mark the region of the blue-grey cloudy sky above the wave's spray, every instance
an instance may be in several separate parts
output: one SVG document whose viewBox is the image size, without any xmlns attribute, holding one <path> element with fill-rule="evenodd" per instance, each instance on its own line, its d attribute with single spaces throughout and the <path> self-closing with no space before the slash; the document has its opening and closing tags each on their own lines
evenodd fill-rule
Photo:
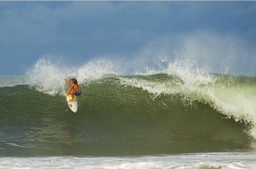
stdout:
<svg viewBox="0 0 256 169">
<path fill-rule="evenodd" d="M 0 1 L 0 74 L 25 74 L 46 55 L 134 57 L 159 37 L 200 31 L 243 41 L 241 67 L 254 63 L 256 1 Z M 256 74 L 250 66 L 239 73 Z"/>
</svg>

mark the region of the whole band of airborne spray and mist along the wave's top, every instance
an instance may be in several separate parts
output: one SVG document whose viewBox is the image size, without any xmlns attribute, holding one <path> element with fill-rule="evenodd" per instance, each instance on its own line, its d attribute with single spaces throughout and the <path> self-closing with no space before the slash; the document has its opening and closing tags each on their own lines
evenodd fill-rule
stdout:
<svg viewBox="0 0 256 169">
<path fill-rule="evenodd" d="M 189 80 L 205 73 L 248 74 L 256 72 L 256 51 L 233 35 L 210 31 L 168 34 L 157 37 L 130 56 L 95 57 L 77 64 L 75 57 L 43 56 L 29 68 L 29 83 L 41 91 L 56 94 L 63 86 L 62 78 L 76 77 L 80 82 L 101 78 L 104 74 L 177 74 Z M 201 80 L 210 80 L 203 77 Z M 42 85 L 39 85 L 42 84 Z M 51 84 L 59 84 L 51 90 Z"/>
</svg>

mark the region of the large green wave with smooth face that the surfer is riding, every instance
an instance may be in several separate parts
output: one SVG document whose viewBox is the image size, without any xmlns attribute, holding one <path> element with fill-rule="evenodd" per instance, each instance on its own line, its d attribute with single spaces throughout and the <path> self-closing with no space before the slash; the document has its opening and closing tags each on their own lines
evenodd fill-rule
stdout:
<svg viewBox="0 0 256 169">
<path fill-rule="evenodd" d="M 255 85 L 250 85 L 256 78 L 206 76 L 215 77 L 214 82 L 201 83 L 190 91 L 175 75 L 104 75 L 80 83 L 77 113 L 69 110 L 65 90 L 50 95 L 40 88 L 36 91 L 37 86 L 2 87 L 1 98 L 6 99 L 0 107 L 4 112 L 0 144 L 7 154 L 10 148 L 27 147 L 29 153 L 36 149 L 46 155 L 55 155 L 58 144 L 63 145 L 59 147 L 63 155 L 71 153 L 71 147 L 76 147 L 76 155 L 253 148 L 254 116 L 250 113 L 254 113 L 255 104 L 240 103 L 254 101 Z"/>
</svg>

